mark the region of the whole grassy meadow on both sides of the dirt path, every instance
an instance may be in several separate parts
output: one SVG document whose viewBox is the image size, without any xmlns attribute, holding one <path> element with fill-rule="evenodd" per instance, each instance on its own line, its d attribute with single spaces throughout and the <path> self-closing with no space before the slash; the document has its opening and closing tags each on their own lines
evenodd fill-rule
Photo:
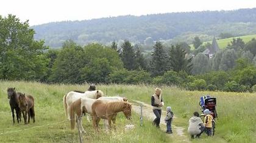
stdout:
<svg viewBox="0 0 256 143">
<path fill-rule="evenodd" d="M 7 99 L 7 87 L 16 87 L 16 91 L 30 94 L 35 98 L 35 124 L 12 124 L 12 116 Z M 65 121 L 62 98 L 71 90 L 85 90 L 88 85 L 48 85 L 38 82 L 0 82 L 0 135 L 1 142 L 78 142 L 77 130 L 69 129 L 69 122 Z M 97 85 L 99 90 L 108 96 L 126 96 L 130 101 L 137 100 L 150 104 L 154 85 Z M 171 106 L 176 119 L 173 125 L 185 128 L 187 135 L 188 119 L 194 111 L 200 111 L 199 97 L 210 94 L 217 98 L 218 120 L 215 136 L 193 142 L 256 142 L 256 94 L 254 93 L 226 93 L 212 91 L 186 91 L 175 87 L 161 87 L 166 106 Z M 97 134 L 91 123 L 83 120 L 87 131 L 83 136 L 86 142 L 175 142 L 163 131 L 152 127 L 151 121 L 144 122 L 140 127 L 140 118 L 133 113 L 135 130 L 125 131 L 128 124 L 123 114 L 116 119 L 117 131 Z M 23 119 L 22 119 L 23 121 Z M 63 121 L 63 122 L 62 122 Z M 59 122 L 59 123 L 58 123 Z M 54 123 L 54 124 L 52 124 Z M 51 124 L 51 125 L 47 125 Z M 43 126 L 45 125 L 45 126 Z M 102 125 L 102 122 L 101 122 Z M 38 127 L 39 126 L 39 127 Z M 36 128 L 32 128 L 36 127 Z M 26 130 L 26 128 L 32 128 Z M 25 130 L 24 130 L 25 129 Z M 22 131 L 19 131 L 22 130 Z M 9 133 L 12 132 L 12 133 Z M 16 132 L 13 132 L 16 131 Z M 156 136 L 157 135 L 157 136 Z M 187 135 L 188 136 L 188 135 Z M 188 136 L 189 138 L 189 136 Z"/>
</svg>

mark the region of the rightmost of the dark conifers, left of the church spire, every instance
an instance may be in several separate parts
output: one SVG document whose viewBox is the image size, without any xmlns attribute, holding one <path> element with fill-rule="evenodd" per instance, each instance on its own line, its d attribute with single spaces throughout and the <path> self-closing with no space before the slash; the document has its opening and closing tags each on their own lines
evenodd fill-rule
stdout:
<svg viewBox="0 0 256 143">
<path fill-rule="evenodd" d="M 179 72 L 181 70 L 190 73 L 192 68 L 192 58 L 185 58 L 187 52 L 183 50 L 180 45 L 172 45 L 169 51 L 169 63 L 173 71 Z"/>
</svg>

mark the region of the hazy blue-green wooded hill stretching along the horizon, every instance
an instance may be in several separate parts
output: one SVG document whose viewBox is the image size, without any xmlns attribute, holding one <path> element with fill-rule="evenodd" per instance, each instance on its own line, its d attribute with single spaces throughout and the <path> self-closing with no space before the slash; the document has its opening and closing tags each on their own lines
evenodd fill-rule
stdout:
<svg viewBox="0 0 256 143">
<path fill-rule="evenodd" d="M 171 39 L 191 42 L 194 35 L 209 41 L 221 32 L 233 36 L 256 33 L 256 8 L 230 11 L 165 13 L 145 16 L 118 16 L 85 21 L 63 21 L 35 25 L 35 39 L 44 39 L 50 47 L 60 47 L 66 39 L 78 44 L 128 39 L 141 42 Z"/>
</svg>

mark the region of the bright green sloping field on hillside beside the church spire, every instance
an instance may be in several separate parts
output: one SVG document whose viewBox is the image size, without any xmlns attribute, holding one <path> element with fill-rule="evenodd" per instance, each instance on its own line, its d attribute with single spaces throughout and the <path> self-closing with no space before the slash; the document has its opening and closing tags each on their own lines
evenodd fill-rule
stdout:
<svg viewBox="0 0 256 143">
<path fill-rule="evenodd" d="M 238 37 L 233 37 L 233 38 L 241 38 L 241 39 L 243 39 L 244 43 L 247 43 L 247 42 L 251 41 L 252 38 L 256 38 L 256 35 L 238 36 Z M 229 43 L 231 44 L 230 41 L 233 41 L 233 38 L 226 38 L 226 39 L 217 40 L 219 48 L 221 48 L 221 49 L 226 48 Z M 212 44 L 212 41 L 207 41 L 207 42 L 210 42 Z M 207 44 L 207 42 L 203 42 L 203 45 Z M 193 44 L 190 44 L 190 47 L 191 47 L 191 50 L 194 50 Z"/>
</svg>

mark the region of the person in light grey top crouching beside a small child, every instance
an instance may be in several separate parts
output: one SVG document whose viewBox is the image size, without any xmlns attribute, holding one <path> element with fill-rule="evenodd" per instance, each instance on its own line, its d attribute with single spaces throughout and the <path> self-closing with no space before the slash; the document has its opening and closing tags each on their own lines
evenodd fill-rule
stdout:
<svg viewBox="0 0 256 143">
<path fill-rule="evenodd" d="M 188 126 L 188 133 L 190 133 L 191 139 L 194 139 L 194 135 L 196 135 L 196 138 L 200 138 L 200 135 L 205 130 L 204 123 L 202 122 L 202 119 L 199 117 L 199 113 L 195 111 L 193 115 L 194 116 L 190 118 Z"/>
</svg>

